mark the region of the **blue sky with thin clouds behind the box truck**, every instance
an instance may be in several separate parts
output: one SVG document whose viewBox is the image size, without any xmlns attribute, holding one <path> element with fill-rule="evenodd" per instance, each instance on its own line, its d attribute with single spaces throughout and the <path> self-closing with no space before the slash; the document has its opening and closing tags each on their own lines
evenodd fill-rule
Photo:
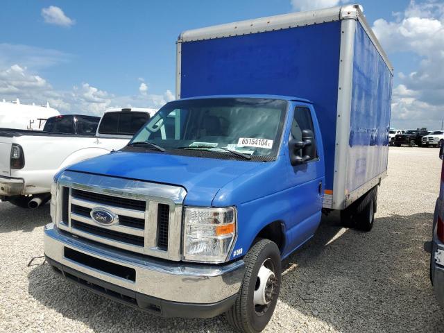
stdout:
<svg viewBox="0 0 444 333">
<path fill-rule="evenodd" d="M 181 31 L 341 2 L 6 0 L 0 12 L 3 31 L 0 71 L 6 73 L 9 69 L 10 73 L 0 75 L 0 98 L 17 96 L 25 102 L 40 103 L 46 102 L 40 100 L 46 98 L 65 113 L 100 113 L 103 107 L 117 106 L 116 103 L 160 106 L 174 93 L 175 42 Z M 408 18 L 409 7 L 429 2 L 416 1 L 412 5 L 407 0 L 364 0 L 360 3 L 370 24 L 382 19 L 382 23 L 399 25 Z M 51 10 L 46 16 L 42 11 L 50 6 L 60 8 L 65 18 L 60 21 L 60 17 L 56 17 L 56 21 L 51 22 Z M 430 19 L 442 22 L 442 16 L 431 14 Z M 391 50 L 389 58 L 397 73 L 409 74 L 417 70 L 424 55 L 400 47 Z M 13 65 L 18 68 L 10 69 Z M 14 86 L 17 80 L 10 76 L 17 74 L 16 71 L 32 81 L 35 94 L 31 89 L 25 91 L 24 87 Z M 44 83 L 36 79 L 37 76 Z M 1 80 L 4 89 L 1 89 Z M 139 89 L 142 83 L 146 89 Z M 402 84 L 398 75 L 394 83 L 394 87 Z M 48 90 L 51 92 L 46 93 Z"/>
</svg>

